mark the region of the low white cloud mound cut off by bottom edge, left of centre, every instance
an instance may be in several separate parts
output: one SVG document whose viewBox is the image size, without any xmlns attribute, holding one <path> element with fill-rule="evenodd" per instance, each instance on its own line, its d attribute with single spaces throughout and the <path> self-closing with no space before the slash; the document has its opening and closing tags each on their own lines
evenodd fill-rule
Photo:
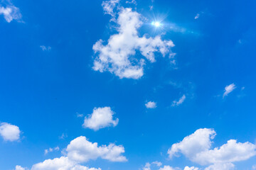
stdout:
<svg viewBox="0 0 256 170">
<path fill-rule="evenodd" d="M 34 164 L 31 170 L 101 170 L 88 168 L 76 162 L 70 161 L 68 157 L 60 157 L 55 159 L 46 159 L 44 162 Z"/>
</svg>

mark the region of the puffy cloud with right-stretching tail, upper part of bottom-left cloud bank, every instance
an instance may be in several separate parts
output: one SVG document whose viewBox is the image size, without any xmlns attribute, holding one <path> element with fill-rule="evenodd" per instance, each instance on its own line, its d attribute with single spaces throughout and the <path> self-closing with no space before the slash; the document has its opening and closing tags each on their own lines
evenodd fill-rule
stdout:
<svg viewBox="0 0 256 170">
<path fill-rule="evenodd" d="M 97 146 L 97 142 L 89 142 L 86 137 L 77 137 L 70 142 L 66 151 L 68 157 L 76 162 L 87 162 L 90 159 L 107 159 L 111 162 L 126 162 L 126 157 L 121 154 L 124 153 L 122 145 L 102 145 Z"/>
</svg>

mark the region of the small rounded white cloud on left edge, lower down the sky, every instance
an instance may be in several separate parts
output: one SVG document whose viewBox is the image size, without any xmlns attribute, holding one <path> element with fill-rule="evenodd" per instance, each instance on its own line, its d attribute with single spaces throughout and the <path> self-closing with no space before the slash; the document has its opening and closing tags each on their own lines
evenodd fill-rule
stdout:
<svg viewBox="0 0 256 170">
<path fill-rule="evenodd" d="M 19 140 L 20 134 L 21 130 L 19 130 L 18 126 L 9 123 L 0 124 L 0 135 L 4 140 L 11 142 Z"/>
</svg>

